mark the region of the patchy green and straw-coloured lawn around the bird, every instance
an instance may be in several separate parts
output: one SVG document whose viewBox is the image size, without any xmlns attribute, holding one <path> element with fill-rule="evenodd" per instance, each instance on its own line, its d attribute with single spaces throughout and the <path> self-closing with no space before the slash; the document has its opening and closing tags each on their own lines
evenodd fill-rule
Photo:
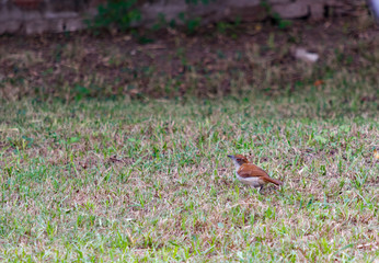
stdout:
<svg viewBox="0 0 379 263">
<path fill-rule="evenodd" d="M 4 102 L 0 258 L 378 260 L 372 92 L 342 72 L 276 99 Z M 239 183 L 233 152 L 285 186 Z"/>
</svg>

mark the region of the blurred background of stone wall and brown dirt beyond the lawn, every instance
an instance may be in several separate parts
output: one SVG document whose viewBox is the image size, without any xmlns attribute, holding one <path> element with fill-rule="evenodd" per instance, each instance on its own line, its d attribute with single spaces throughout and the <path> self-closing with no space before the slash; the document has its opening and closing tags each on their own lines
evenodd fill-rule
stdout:
<svg viewBox="0 0 379 263">
<path fill-rule="evenodd" d="M 0 96 L 277 96 L 324 89 L 333 78 L 377 85 L 378 26 L 369 3 L 1 1 Z"/>
</svg>

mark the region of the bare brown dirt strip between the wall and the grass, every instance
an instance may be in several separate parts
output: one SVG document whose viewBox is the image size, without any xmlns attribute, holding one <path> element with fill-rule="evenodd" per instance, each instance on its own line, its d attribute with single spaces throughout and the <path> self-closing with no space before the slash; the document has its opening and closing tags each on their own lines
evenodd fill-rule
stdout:
<svg viewBox="0 0 379 263">
<path fill-rule="evenodd" d="M 267 23 L 114 36 L 67 33 L 7 37 L 0 42 L 0 95 L 64 101 L 84 98 L 222 98 L 261 91 L 283 95 L 319 83 L 341 70 L 377 78 L 378 31 L 370 20 Z M 146 38 L 153 41 L 149 44 Z M 303 47 L 315 65 L 294 58 Z M 368 73 L 367 70 L 370 72 Z M 378 100 L 370 94 L 368 100 Z M 365 99 L 366 100 L 366 99 Z"/>
</svg>

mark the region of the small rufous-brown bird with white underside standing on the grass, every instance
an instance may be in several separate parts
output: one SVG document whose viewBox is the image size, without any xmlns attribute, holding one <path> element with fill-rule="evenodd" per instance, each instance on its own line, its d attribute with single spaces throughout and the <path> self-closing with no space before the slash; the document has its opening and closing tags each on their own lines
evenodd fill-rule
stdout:
<svg viewBox="0 0 379 263">
<path fill-rule="evenodd" d="M 236 155 L 228 157 L 234 161 L 236 175 L 240 182 L 252 187 L 259 187 L 260 191 L 267 183 L 273 183 L 277 186 L 283 184 L 282 181 L 268 176 L 267 172 L 262 168 L 249 162 L 248 158 L 244 156 Z"/>
</svg>

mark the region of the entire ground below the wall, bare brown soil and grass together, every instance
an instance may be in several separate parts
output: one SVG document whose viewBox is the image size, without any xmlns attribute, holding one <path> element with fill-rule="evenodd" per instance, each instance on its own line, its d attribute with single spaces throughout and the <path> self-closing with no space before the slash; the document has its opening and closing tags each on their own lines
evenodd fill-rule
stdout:
<svg viewBox="0 0 379 263">
<path fill-rule="evenodd" d="M 0 259 L 376 262 L 377 35 L 349 25 L 4 36 Z M 284 186 L 241 184 L 230 153 Z"/>
</svg>

